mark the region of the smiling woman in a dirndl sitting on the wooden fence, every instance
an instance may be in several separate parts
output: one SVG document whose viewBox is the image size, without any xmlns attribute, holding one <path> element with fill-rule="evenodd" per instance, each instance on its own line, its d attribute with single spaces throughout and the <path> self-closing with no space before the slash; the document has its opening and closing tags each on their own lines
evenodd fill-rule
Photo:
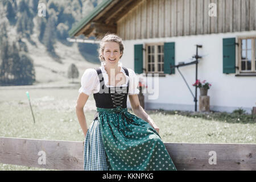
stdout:
<svg viewBox="0 0 256 182">
<path fill-rule="evenodd" d="M 122 67 L 122 39 L 106 34 L 101 39 L 101 67 L 86 69 L 76 104 L 85 136 L 85 170 L 176 170 L 159 136 L 159 127 L 138 100 L 138 78 Z M 93 93 L 97 115 L 87 127 L 83 107 Z M 135 115 L 127 111 L 129 95 Z"/>
</svg>

